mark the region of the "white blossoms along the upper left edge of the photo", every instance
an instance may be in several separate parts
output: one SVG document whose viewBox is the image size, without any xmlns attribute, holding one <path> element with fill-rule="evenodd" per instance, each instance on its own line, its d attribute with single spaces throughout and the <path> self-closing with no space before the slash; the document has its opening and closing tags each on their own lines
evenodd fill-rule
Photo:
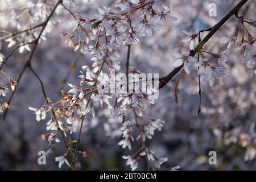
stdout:
<svg viewBox="0 0 256 182">
<path fill-rule="evenodd" d="M 11 17 L 10 19 L 10 26 L 16 29 L 16 32 L 9 32 L 0 28 L 0 32 L 4 35 L 0 38 L 0 51 L 2 49 L 3 42 L 7 43 L 7 48 L 15 47 L 13 51 L 11 51 L 10 55 L 3 55 L 0 52 L 0 74 L 7 78 L 10 82 L 10 88 L 12 91 L 15 90 L 17 86 L 17 82 L 13 80 L 7 73 L 3 71 L 3 65 L 7 61 L 7 59 L 11 56 L 11 54 L 19 50 L 19 53 L 23 53 L 26 51 L 31 51 L 31 44 L 35 43 L 35 39 L 40 34 L 40 30 L 43 26 L 43 23 L 47 15 L 51 12 L 52 9 L 52 2 L 32 2 L 28 1 L 26 6 L 22 6 L 19 2 L 16 2 L 16 5 L 7 5 L 5 2 L 2 2 L 7 8 L 5 12 L 7 15 Z M 21 7 L 18 9 L 17 7 Z M 22 15 L 19 14 L 19 11 L 22 11 Z M 30 24 L 30 28 L 24 27 L 28 22 Z M 24 23 L 26 22 L 26 23 Z M 42 35 L 40 36 L 40 40 L 46 40 L 46 33 L 51 31 L 51 28 L 55 24 L 55 20 L 49 20 L 47 26 L 44 28 Z M 27 28 L 27 29 L 26 29 Z M 9 92 L 9 86 L 1 86 L 0 83 L 0 96 L 5 97 L 6 93 Z M 3 113 L 9 107 L 7 102 L 2 101 L 0 99 L 0 114 Z"/>
</svg>

